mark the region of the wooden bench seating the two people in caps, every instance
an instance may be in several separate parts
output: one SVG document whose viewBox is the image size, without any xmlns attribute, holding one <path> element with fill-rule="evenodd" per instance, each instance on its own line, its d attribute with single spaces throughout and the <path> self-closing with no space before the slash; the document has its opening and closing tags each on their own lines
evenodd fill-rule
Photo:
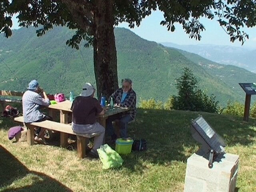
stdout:
<svg viewBox="0 0 256 192">
<path fill-rule="evenodd" d="M 14 118 L 14 121 L 24 123 L 23 116 Z M 48 130 L 60 132 L 60 146 L 65 147 L 68 144 L 67 134 L 76 135 L 77 137 L 77 156 L 85 158 L 86 139 L 99 135 L 98 132 L 93 134 L 78 134 L 73 132 L 71 124 L 63 124 L 59 122 L 45 120 L 42 122 L 25 123 L 27 127 L 27 142 L 29 145 L 34 145 L 34 128 L 41 127 Z"/>
</svg>

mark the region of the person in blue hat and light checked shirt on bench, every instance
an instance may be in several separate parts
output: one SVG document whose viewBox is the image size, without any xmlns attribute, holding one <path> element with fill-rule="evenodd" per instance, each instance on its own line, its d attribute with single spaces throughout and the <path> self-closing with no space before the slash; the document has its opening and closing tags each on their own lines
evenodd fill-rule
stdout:
<svg viewBox="0 0 256 192">
<path fill-rule="evenodd" d="M 28 84 L 28 90 L 22 96 L 23 118 L 25 123 L 52 120 L 52 117 L 42 113 L 40 106 L 49 106 L 50 100 L 46 93 L 39 87 L 37 80 L 32 80 Z M 44 98 L 42 97 L 44 96 Z M 44 129 L 35 130 L 35 141 L 46 144 L 44 140 Z"/>
</svg>

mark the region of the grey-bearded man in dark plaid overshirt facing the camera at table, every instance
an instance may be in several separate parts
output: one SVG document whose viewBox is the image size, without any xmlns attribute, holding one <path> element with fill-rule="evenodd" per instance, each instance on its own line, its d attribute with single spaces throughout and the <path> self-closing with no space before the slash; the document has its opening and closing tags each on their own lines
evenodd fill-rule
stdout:
<svg viewBox="0 0 256 192">
<path fill-rule="evenodd" d="M 128 122 L 134 120 L 136 116 L 136 93 L 132 89 L 132 80 L 130 79 L 122 79 L 122 88 L 117 89 L 110 98 L 113 98 L 113 102 L 122 107 L 129 107 L 130 110 L 128 112 L 124 112 L 122 114 L 116 114 L 110 116 L 106 120 L 106 128 L 108 130 L 108 134 L 111 136 L 112 142 L 114 142 L 117 138 L 116 134 L 114 134 L 114 128 L 112 122 L 116 119 L 119 119 L 119 128 L 120 128 L 120 137 L 126 138 L 126 130 L 128 126 Z"/>
</svg>

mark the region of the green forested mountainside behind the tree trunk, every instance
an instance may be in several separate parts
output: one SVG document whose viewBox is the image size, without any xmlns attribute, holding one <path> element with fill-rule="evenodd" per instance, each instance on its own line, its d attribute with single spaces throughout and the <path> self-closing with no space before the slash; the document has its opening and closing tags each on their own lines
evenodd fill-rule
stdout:
<svg viewBox="0 0 256 192">
<path fill-rule="evenodd" d="M 55 27 L 41 37 L 35 31 L 20 28 L 8 39 L 0 34 L 0 89 L 24 91 L 30 80 L 37 79 L 46 92 L 68 96 L 70 90 L 80 94 L 85 82 L 96 84 L 92 47 L 66 46 L 74 35 L 67 28 Z M 214 94 L 223 106 L 228 99 L 244 102 L 238 82 L 255 81 L 256 74 L 242 68 L 144 40 L 124 28 L 114 32 L 119 84 L 122 78 L 131 78 L 138 102 L 151 97 L 165 102 L 170 94 L 177 94 L 175 79 L 185 66 L 193 71 L 199 87 Z"/>
</svg>

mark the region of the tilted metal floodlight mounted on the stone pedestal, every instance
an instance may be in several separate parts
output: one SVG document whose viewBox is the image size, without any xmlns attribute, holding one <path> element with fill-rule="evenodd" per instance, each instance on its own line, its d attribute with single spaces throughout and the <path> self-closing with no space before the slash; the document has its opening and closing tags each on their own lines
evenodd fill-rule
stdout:
<svg viewBox="0 0 256 192">
<path fill-rule="evenodd" d="M 226 146 L 224 140 L 214 131 L 214 129 L 204 120 L 202 116 L 198 116 L 195 120 L 191 120 L 191 132 L 193 138 L 202 144 L 202 150 L 209 154 L 208 167 L 213 167 L 214 159 L 219 154 L 224 154 Z"/>
</svg>

